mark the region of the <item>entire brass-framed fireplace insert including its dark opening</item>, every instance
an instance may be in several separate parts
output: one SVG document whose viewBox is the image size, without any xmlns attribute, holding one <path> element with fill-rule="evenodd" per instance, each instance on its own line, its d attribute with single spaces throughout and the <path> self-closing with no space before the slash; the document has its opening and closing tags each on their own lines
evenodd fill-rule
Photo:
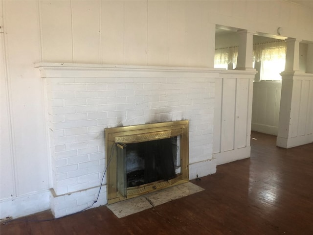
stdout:
<svg viewBox="0 0 313 235">
<path fill-rule="evenodd" d="M 188 120 L 107 128 L 108 203 L 185 183 Z M 107 155 L 109 156 L 109 155 Z"/>
</svg>

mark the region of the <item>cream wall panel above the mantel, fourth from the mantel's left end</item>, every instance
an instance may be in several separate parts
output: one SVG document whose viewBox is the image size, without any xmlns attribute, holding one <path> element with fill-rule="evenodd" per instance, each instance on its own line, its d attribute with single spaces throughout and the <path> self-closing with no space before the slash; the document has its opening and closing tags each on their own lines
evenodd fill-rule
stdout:
<svg viewBox="0 0 313 235">
<path fill-rule="evenodd" d="M 125 2 L 125 64 L 147 65 L 147 2 Z"/>
</svg>

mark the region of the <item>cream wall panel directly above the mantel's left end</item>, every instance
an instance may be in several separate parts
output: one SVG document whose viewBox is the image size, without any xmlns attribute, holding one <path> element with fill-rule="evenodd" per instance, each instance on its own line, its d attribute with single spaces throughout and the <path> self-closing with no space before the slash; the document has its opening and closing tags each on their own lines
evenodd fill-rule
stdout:
<svg viewBox="0 0 313 235">
<path fill-rule="evenodd" d="M 50 0 L 39 3 L 44 62 L 72 63 L 71 2 Z"/>
</svg>

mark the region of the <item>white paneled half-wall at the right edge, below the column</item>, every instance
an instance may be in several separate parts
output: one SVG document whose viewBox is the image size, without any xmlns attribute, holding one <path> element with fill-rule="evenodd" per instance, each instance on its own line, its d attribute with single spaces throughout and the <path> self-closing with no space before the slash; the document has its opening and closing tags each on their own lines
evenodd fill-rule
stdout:
<svg viewBox="0 0 313 235">
<path fill-rule="evenodd" d="M 313 74 L 282 73 L 277 146 L 291 148 L 313 142 Z"/>
</svg>

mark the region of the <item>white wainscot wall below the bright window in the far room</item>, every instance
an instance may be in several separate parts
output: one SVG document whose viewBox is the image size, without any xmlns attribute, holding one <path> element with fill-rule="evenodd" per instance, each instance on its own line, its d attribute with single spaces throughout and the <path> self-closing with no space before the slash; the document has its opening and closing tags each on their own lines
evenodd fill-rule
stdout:
<svg viewBox="0 0 313 235">
<path fill-rule="evenodd" d="M 281 82 L 253 83 L 253 131 L 277 136 L 281 89 Z"/>
</svg>

